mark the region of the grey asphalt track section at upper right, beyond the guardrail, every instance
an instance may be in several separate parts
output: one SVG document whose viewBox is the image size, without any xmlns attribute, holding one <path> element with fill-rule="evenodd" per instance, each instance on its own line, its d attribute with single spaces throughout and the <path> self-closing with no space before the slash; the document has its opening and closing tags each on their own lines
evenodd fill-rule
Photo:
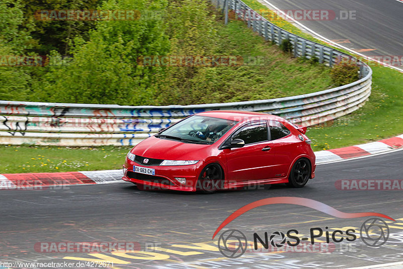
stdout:
<svg viewBox="0 0 403 269">
<path fill-rule="evenodd" d="M 264 4 L 264 0 L 259 0 Z M 280 10 L 332 10 L 334 20 L 301 20 L 316 33 L 367 56 L 403 55 L 403 2 L 397 0 L 267 0 Z M 355 17 L 342 20 L 340 11 Z M 401 69 L 402 66 L 399 66 Z"/>
</svg>

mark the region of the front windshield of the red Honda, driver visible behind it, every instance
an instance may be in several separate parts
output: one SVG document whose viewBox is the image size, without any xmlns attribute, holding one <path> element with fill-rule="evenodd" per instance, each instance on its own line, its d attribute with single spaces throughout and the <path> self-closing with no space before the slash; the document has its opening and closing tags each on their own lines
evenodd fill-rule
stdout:
<svg viewBox="0 0 403 269">
<path fill-rule="evenodd" d="M 188 143 L 213 144 L 236 123 L 238 121 L 196 115 L 156 134 L 156 137 Z"/>
</svg>

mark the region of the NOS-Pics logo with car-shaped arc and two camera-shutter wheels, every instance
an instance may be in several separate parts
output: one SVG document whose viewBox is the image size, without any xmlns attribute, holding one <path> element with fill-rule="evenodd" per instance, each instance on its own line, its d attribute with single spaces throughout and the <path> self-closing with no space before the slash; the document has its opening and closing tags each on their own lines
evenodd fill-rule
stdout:
<svg viewBox="0 0 403 269">
<path fill-rule="evenodd" d="M 361 218 L 361 217 L 371 217 L 364 221 L 360 227 L 360 238 L 361 240 L 370 247 L 379 247 L 387 242 L 389 238 L 389 227 L 385 221 L 378 218 L 386 218 L 392 221 L 394 219 L 379 213 L 344 213 L 338 211 L 332 207 L 329 207 L 319 201 L 315 201 L 307 198 L 300 197 L 273 197 L 255 201 L 249 205 L 246 205 L 239 210 L 231 214 L 220 226 L 217 228 L 213 235 L 214 237 L 218 234 L 220 230 L 228 223 L 242 215 L 243 213 L 263 205 L 272 204 L 292 204 L 309 207 L 334 217 L 338 218 Z M 314 227 L 309 230 L 309 237 L 299 238 L 299 232 L 295 229 L 288 230 L 286 233 L 282 231 L 275 231 L 270 234 L 265 232 L 264 234 L 253 233 L 253 248 L 258 249 L 260 244 L 263 248 L 269 249 L 270 247 L 281 248 L 283 246 L 297 247 L 302 241 L 307 241 L 311 245 L 315 244 L 315 239 L 319 237 L 325 237 L 327 243 L 340 243 L 343 240 L 348 242 L 353 242 L 357 239 L 355 233 L 358 233 L 355 229 L 342 230 L 327 230 L 328 227 L 320 228 Z M 316 242 L 318 243 L 318 242 Z M 252 247 L 252 246 L 250 246 Z M 228 258 L 237 258 L 242 256 L 248 248 L 248 241 L 244 233 L 236 229 L 229 229 L 224 231 L 218 240 L 218 248 L 220 252 Z M 252 252 L 253 250 L 251 250 Z"/>
</svg>

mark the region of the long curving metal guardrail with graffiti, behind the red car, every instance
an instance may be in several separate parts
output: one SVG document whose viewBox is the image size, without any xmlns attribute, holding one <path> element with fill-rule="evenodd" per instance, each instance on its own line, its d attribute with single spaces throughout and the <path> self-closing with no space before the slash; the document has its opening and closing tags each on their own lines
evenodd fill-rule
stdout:
<svg viewBox="0 0 403 269">
<path fill-rule="evenodd" d="M 239 18 L 266 40 L 281 44 L 289 39 L 298 57 L 315 56 L 334 64 L 351 56 L 287 32 L 268 22 L 239 0 L 221 0 L 224 10 Z M 220 1 L 216 1 L 220 7 Z M 228 5 L 228 6 L 227 6 Z M 189 106 L 119 106 L 0 101 L 0 144 L 102 146 L 136 145 L 159 128 L 207 110 L 250 110 L 280 115 L 306 126 L 351 113 L 371 94 L 372 70 L 359 62 L 361 79 L 338 88 L 299 96 L 224 104 Z"/>
</svg>

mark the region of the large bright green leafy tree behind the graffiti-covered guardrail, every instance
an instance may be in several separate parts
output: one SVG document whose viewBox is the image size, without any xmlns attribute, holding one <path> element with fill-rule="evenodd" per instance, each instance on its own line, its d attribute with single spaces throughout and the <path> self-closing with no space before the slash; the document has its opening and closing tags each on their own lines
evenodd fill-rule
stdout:
<svg viewBox="0 0 403 269">
<path fill-rule="evenodd" d="M 103 10 L 161 11 L 164 0 L 109 0 Z M 35 86 L 42 101 L 117 103 L 139 105 L 152 102 L 153 74 L 160 68 L 137 65 L 141 55 L 166 54 L 169 42 L 158 17 L 128 21 L 99 21 L 90 30 L 89 41 L 76 37 L 73 58 L 60 66 L 49 66 L 43 83 Z M 55 56 L 57 53 L 52 52 Z"/>
</svg>

